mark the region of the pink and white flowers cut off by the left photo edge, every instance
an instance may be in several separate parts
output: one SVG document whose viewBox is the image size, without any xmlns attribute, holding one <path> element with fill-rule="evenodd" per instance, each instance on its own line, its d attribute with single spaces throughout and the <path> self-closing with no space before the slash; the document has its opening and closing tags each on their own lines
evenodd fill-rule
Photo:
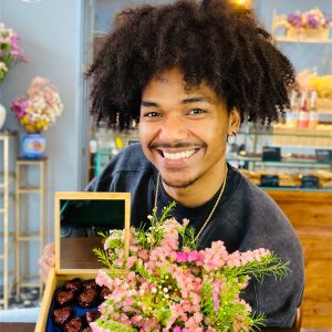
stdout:
<svg viewBox="0 0 332 332">
<path fill-rule="evenodd" d="M 23 50 L 19 46 L 21 38 L 0 22 L 0 83 L 4 80 L 10 68 L 18 61 L 28 61 Z"/>
</svg>

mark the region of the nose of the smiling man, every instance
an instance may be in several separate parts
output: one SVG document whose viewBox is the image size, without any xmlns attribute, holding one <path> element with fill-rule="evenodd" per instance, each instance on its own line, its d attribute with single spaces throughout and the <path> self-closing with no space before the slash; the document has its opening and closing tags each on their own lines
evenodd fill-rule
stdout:
<svg viewBox="0 0 332 332">
<path fill-rule="evenodd" d="M 185 121 L 178 115 L 167 116 L 162 124 L 159 139 L 164 143 L 176 143 L 187 138 Z"/>
</svg>

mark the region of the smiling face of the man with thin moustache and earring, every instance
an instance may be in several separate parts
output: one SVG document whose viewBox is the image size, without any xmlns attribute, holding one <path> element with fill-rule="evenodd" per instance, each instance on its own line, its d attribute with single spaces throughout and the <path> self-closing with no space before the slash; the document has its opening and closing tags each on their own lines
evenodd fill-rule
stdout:
<svg viewBox="0 0 332 332">
<path fill-rule="evenodd" d="M 212 89 L 185 89 L 175 68 L 154 76 L 142 93 L 139 138 L 143 152 L 173 188 L 209 185 L 220 178 L 227 134 L 237 132 L 239 114 L 228 114 Z"/>
</svg>

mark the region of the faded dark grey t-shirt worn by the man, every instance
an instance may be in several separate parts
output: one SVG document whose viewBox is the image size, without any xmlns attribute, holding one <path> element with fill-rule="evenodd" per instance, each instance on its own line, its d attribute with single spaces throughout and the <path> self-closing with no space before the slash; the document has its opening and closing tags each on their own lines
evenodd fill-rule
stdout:
<svg viewBox="0 0 332 332">
<path fill-rule="evenodd" d="M 139 226 L 147 220 L 146 217 L 154 207 L 156 181 L 157 169 L 145 158 L 141 144 L 134 144 L 113 157 L 102 174 L 87 186 L 87 190 L 129 191 L 131 221 L 133 226 Z M 178 221 L 189 219 L 189 225 L 198 232 L 216 203 L 217 195 L 196 208 L 177 204 L 173 216 Z M 158 211 L 172 200 L 163 186 L 159 186 Z M 301 245 L 277 204 L 231 166 L 224 195 L 199 237 L 198 247 L 209 247 L 216 240 L 222 240 L 229 252 L 267 248 L 290 261 L 291 271 L 287 277 L 277 281 L 272 276 L 266 277 L 262 283 L 252 279 L 246 288 L 243 299 L 253 311 L 266 314 L 267 326 L 291 326 L 295 309 L 302 300 L 304 284 Z"/>
</svg>

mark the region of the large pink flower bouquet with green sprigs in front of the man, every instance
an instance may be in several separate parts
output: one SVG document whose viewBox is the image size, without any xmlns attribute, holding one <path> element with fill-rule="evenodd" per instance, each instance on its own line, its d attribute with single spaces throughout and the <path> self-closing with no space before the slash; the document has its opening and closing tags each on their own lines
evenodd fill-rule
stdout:
<svg viewBox="0 0 332 332">
<path fill-rule="evenodd" d="M 240 294 L 251 277 L 282 277 L 288 262 L 266 249 L 228 253 L 222 241 L 196 249 L 194 228 L 168 218 L 174 203 L 151 227 L 131 229 L 129 257 L 124 231 L 111 230 L 104 250 L 94 249 L 106 268 L 96 277 L 108 294 L 100 305 L 93 331 L 250 331 L 263 325 Z M 112 271 L 126 269 L 125 277 Z M 113 274 L 114 276 L 114 274 Z"/>
</svg>

